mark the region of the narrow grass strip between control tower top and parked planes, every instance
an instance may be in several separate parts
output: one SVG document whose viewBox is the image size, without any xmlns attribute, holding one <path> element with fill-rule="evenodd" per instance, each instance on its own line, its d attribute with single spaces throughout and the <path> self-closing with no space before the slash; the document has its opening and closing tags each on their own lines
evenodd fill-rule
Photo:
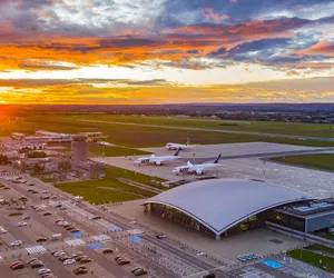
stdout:
<svg viewBox="0 0 334 278">
<path fill-rule="evenodd" d="M 129 156 L 143 156 L 143 155 L 150 155 L 148 151 L 131 149 L 131 148 L 125 148 L 125 147 L 89 147 L 89 152 L 92 152 L 98 156 L 102 156 L 105 152 L 106 157 L 129 157 Z"/>
</svg>

